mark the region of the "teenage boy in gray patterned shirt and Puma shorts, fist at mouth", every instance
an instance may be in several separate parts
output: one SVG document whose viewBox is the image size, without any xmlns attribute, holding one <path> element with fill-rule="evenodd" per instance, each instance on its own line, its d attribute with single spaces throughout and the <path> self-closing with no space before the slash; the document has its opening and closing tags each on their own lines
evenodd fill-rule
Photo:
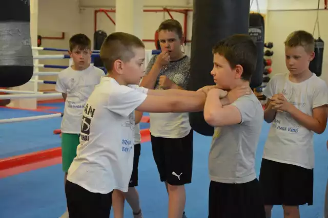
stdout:
<svg viewBox="0 0 328 218">
<path fill-rule="evenodd" d="M 177 20 L 163 21 L 158 28 L 161 53 L 147 65 L 140 86 L 148 89 L 187 89 L 190 58 L 181 51 L 182 27 Z M 186 217 L 185 184 L 191 183 L 193 130 L 188 113 L 150 113 L 153 156 L 161 182 L 169 194 L 169 218 Z"/>
</svg>

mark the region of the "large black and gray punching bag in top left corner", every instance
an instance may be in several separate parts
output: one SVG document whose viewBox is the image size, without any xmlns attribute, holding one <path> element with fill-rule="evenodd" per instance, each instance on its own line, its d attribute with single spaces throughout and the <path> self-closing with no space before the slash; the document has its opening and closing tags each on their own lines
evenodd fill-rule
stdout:
<svg viewBox="0 0 328 218">
<path fill-rule="evenodd" d="M 30 1 L 4 1 L 0 7 L 0 87 L 23 85 L 32 76 Z"/>
</svg>

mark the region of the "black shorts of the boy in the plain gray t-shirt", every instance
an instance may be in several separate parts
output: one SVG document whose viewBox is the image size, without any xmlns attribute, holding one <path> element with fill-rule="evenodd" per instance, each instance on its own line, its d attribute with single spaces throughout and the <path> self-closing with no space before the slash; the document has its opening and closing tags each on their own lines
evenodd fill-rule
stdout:
<svg viewBox="0 0 328 218">
<path fill-rule="evenodd" d="M 265 218 L 263 196 L 257 179 L 242 184 L 211 181 L 209 218 Z"/>
</svg>

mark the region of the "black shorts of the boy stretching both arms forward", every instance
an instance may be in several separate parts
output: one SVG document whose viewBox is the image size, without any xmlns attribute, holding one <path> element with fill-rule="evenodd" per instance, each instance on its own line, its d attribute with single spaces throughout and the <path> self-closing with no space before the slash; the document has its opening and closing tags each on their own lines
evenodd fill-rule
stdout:
<svg viewBox="0 0 328 218">
<path fill-rule="evenodd" d="M 70 218 L 108 218 L 112 206 L 112 192 L 93 193 L 66 181 L 65 193 Z"/>
</svg>

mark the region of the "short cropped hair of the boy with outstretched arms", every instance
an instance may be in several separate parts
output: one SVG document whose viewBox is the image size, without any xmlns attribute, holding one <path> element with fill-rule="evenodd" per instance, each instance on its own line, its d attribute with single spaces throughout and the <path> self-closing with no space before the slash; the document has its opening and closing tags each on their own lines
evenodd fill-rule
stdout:
<svg viewBox="0 0 328 218">
<path fill-rule="evenodd" d="M 129 61 L 135 56 L 134 48 L 145 48 L 138 37 L 123 32 L 115 32 L 106 37 L 100 48 L 100 59 L 108 72 L 116 60 Z"/>
</svg>

